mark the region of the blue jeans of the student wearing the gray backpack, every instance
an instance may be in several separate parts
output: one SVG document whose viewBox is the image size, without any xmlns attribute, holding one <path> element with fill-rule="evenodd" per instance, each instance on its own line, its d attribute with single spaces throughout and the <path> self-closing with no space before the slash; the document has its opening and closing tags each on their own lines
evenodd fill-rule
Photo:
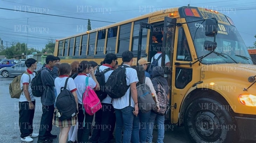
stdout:
<svg viewBox="0 0 256 143">
<path fill-rule="evenodd" d="M 133 131 L 132 131 L 132 143 L 146 143 L 147 139 L 147 125 L 150 117 L 150 111 L 148 113 L 142 113 L 139 110 L 138 116 L 133 118 Z"/>
</svg>

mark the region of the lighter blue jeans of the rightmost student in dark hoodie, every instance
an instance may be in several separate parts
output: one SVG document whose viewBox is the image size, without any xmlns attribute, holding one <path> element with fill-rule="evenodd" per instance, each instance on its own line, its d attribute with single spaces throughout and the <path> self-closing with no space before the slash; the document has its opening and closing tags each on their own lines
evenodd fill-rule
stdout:
<svg viewBox="0 0 256 143">
<path fill-rule="evenodd" d="M 150 118 L 148 121 L 148 135 L 147 135 L 147 142 L 152 143 L 153 140 L 153 128 L 155 119 L 157 121 L 157 143 L 163 143 L 164 138 L 164 115 L 160 115 L 151 111 Z"/>
</svg>

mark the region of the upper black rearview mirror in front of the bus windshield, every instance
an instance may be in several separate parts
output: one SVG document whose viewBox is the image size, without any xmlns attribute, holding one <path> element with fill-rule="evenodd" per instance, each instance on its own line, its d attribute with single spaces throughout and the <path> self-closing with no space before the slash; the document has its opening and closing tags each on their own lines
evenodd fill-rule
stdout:
<svg viewBox="0 0 256 143">
<path fill-rule="evenodd" d="M 209 37 L 214 37 L 218 33 L 218 21 L 215 18 L 206 19 L 205 34 Z"/>
</svg>

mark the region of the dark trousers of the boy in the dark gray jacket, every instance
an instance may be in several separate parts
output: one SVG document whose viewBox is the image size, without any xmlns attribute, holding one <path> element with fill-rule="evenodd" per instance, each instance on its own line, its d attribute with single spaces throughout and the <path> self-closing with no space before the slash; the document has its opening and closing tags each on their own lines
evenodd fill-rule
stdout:
<svg viewBox="0 0 256 143">
<path fill-rule="evenodd" d="M 45 140 L 48 136 L 51 135 L 53 128 L 53 112 L 54 105 L 42 105 L 42 117 L 39 127 L 39 136 L 38 140 Z"/>
</svg>

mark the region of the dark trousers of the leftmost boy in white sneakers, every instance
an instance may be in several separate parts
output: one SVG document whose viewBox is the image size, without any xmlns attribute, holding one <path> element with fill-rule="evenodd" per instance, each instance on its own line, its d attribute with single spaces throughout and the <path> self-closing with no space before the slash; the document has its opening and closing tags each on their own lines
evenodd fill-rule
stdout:
<svg viewBox="0 0 256 143">
<path fill-rule="evenodd" d="M 35 101 L 32 101 L 35 106 Z M 24 138 L 33 133 L 33 119 L 35 109 L 29 109 L 28 101 L 19 102 L 20 137 Z"/>
</svg>

